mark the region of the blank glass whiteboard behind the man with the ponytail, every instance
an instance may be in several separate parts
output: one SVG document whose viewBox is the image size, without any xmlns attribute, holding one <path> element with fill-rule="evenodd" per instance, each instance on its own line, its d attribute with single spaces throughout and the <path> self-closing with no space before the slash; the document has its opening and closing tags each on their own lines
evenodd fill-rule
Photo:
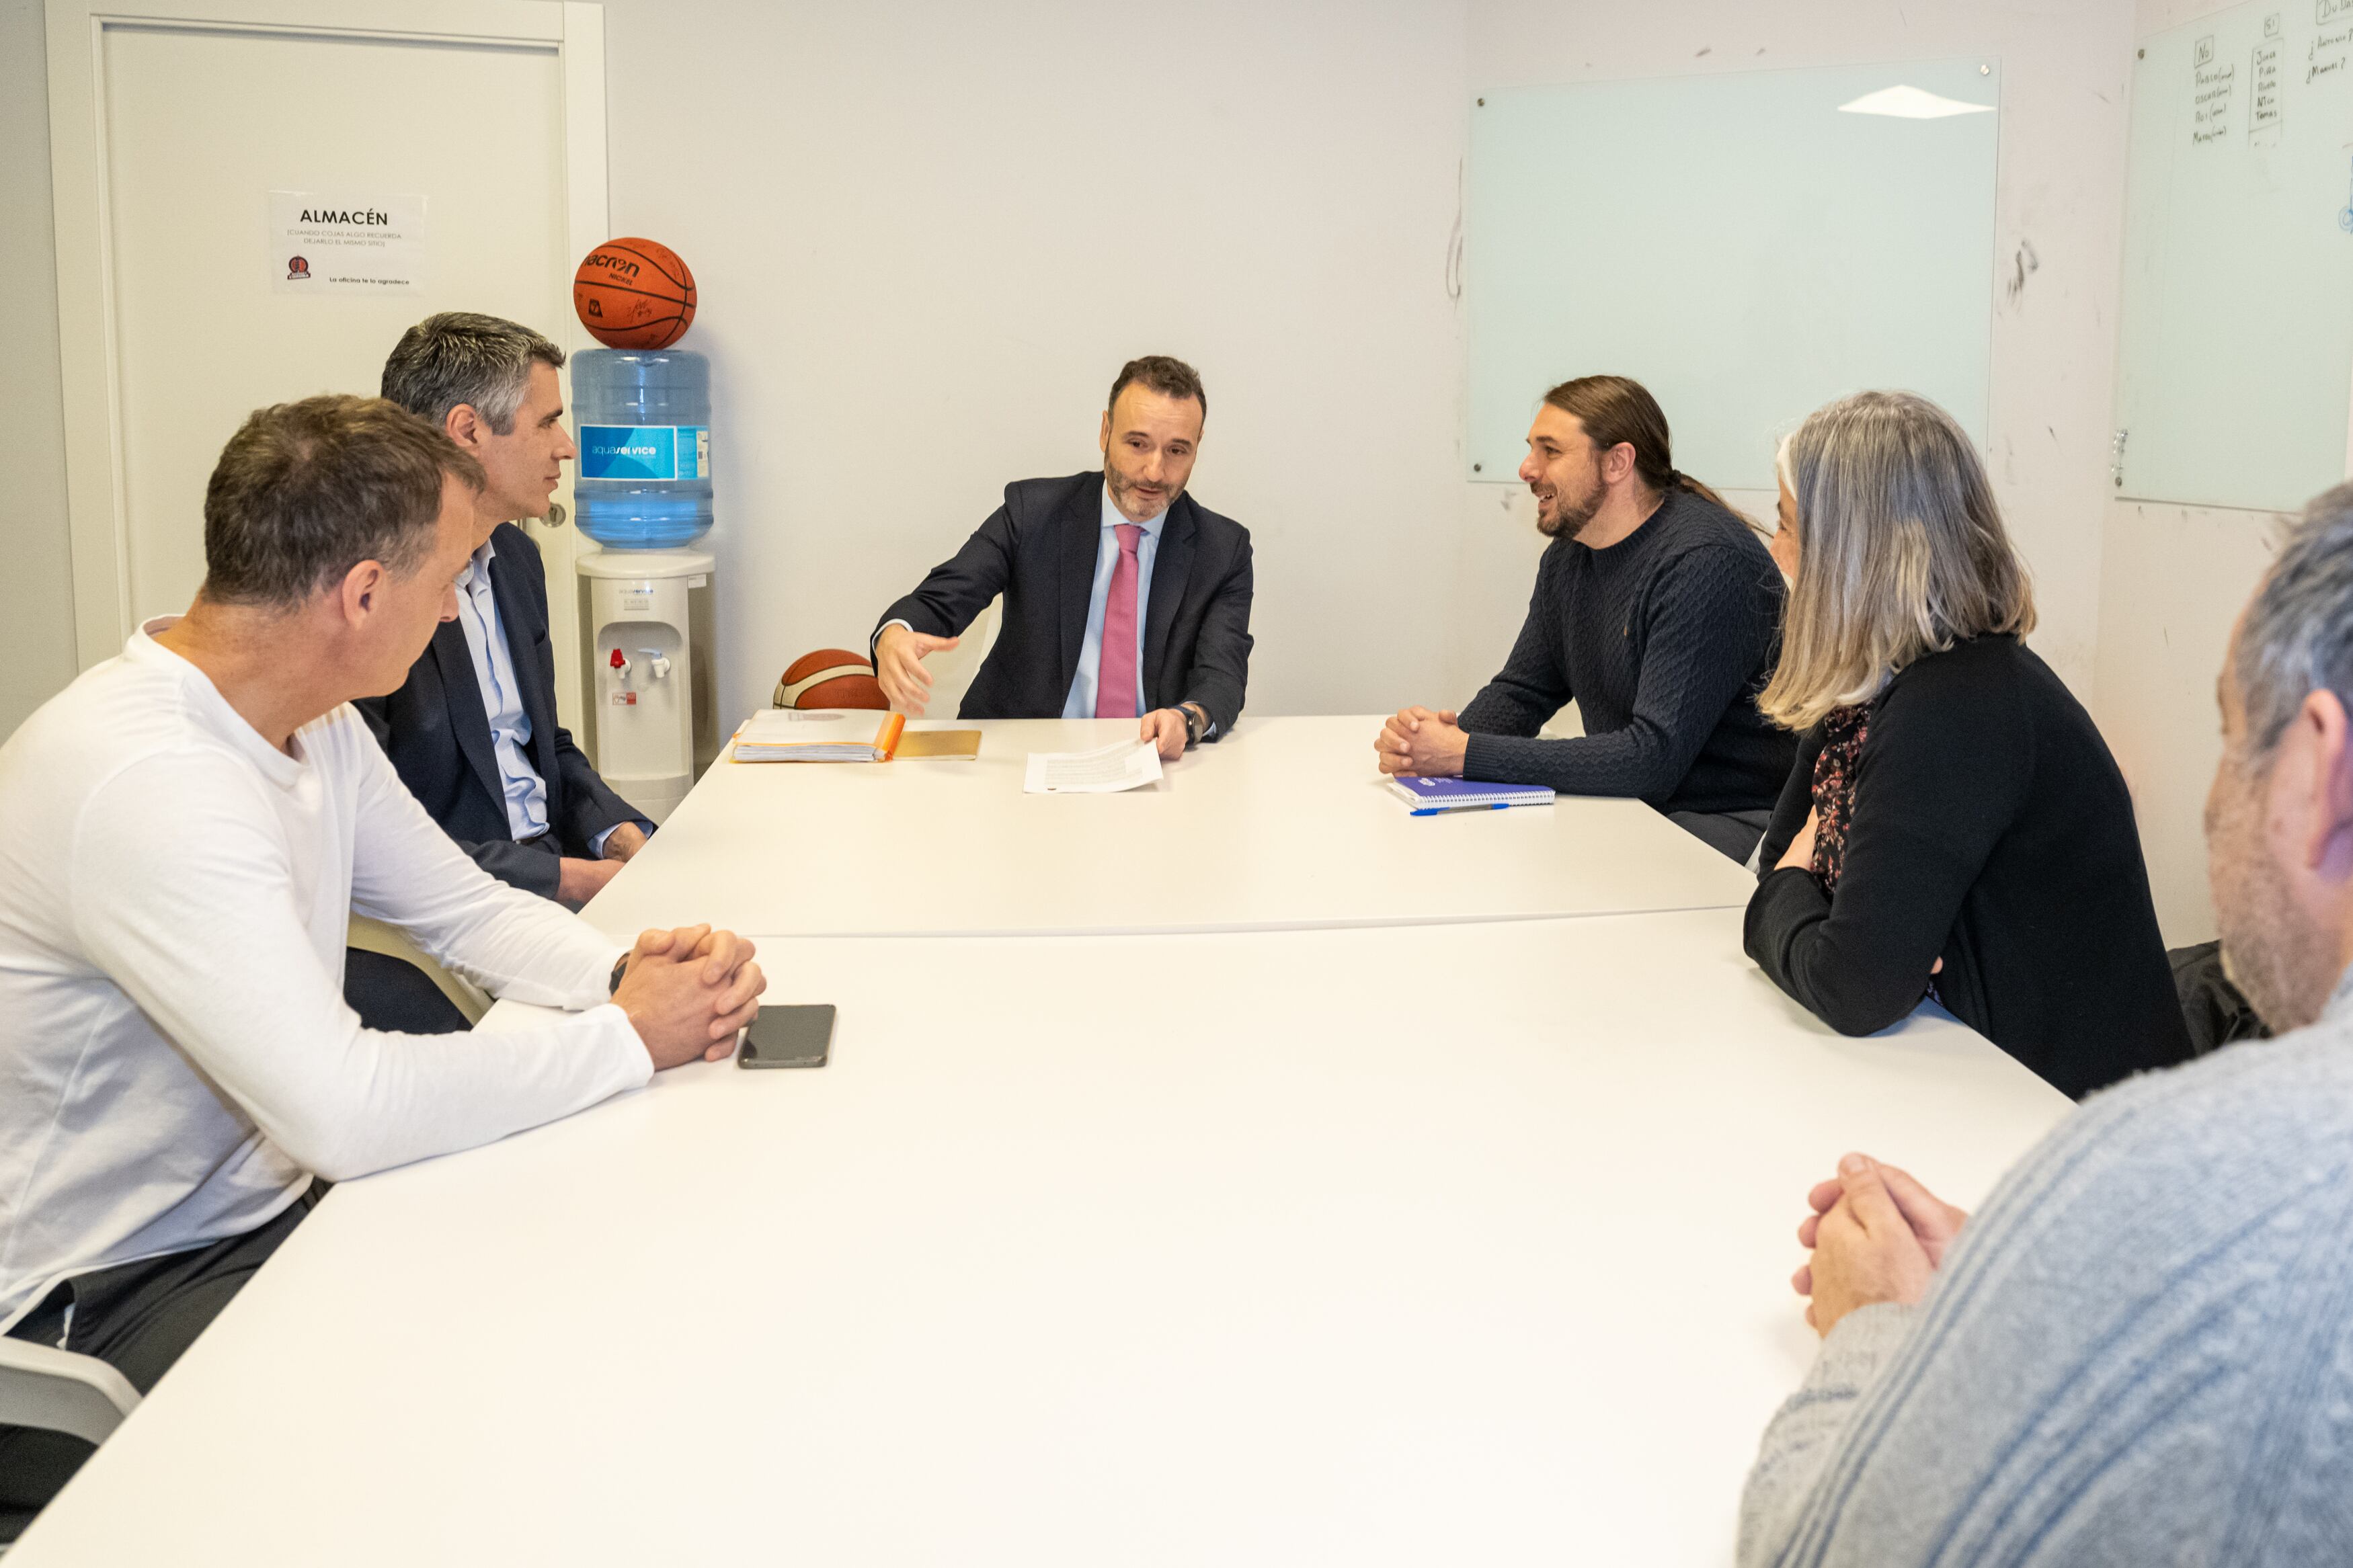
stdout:
<svg viewBox="0 0 2353 1568">
<path fill-rule="evenodd" d="M 1781 433 L 1864 388 L 1984 447 L 1998 103 L 1986 59 L 1482 94 L 1468 477 L 1515 482 L 1544 390 L 1598 371 L 1720 489 L 1772 489 Z"/>
</svg>

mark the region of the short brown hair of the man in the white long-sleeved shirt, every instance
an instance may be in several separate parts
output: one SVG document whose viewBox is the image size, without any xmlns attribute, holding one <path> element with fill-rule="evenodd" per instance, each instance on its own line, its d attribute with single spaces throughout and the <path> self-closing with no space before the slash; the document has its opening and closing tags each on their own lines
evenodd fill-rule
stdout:
<svg viewBox="0 0 2353 1568">
<path fill-rule="evenodd" d="M 205 588 L 214 604 L 292 609 L 360 562 L 424 567 L 442 475 L 482 489 L 456 442 L 381 397 L 254 409 L 205 484 Z"/>
</svg>

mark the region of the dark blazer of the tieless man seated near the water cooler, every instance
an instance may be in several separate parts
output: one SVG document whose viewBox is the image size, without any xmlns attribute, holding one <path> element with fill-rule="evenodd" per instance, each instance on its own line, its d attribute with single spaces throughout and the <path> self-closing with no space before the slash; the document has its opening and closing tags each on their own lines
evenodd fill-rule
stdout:
<svg viewBox="0 0 2353 1568">
<path fill-rule="evenodd" d="M 548 788 L 548 839 L 565 856 L 588 858 L 595 835 L 642 823 L 645 816 L 605 788 L 581 748 L 572 745 L 572 733 L 555 722 L 555 649 L 548 644 L 548 574 L 539 545 L 511 522 L 501 522 L 489 538 L 496 545 L 489 595 L 499 604 L 515 684 L 522 686 L 522 712 L 532 719 L 532 766 Z M 475 865 L 527 893 L 555 898 L 562 872 L 555 856 L 546 844 L 518 844 L 506 818 L 489 710 L 473 677 L 466 628 L 442 621 L 400 691 L 353 705 L 376 731 L 400 783 Z"/>
</svg>

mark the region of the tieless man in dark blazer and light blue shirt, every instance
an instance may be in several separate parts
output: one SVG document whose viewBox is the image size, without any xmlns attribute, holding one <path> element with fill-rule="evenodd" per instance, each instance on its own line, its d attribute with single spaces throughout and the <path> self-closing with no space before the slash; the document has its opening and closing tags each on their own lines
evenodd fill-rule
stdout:
<svg viewBox="0 0 2353 1568">
<path fill-rule="evenodd" d="M 358 708 L 400 780 L 482 870 L 581 905 L 645 846 L 652 823 L 555 722 L 548 578 L 513 522 L 544 515 L 562 463 L 579 456 L 562 425 L 562 362 L 529 327 L 464 310 L 409 327 L 386 360 L 384 395 L 471 451 L 489 484 L 456 618 L 440 623 L 400 691 Z M 398 959 L 346 954 L 344 994 L 369 1027 L 464 1027 L 416 980 Z"/>
</svg>

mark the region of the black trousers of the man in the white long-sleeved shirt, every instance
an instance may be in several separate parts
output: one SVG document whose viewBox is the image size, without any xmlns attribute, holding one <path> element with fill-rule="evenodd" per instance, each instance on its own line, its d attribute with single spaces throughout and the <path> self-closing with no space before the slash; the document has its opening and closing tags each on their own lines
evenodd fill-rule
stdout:
<svg viewBox="0 0 2353 1568">
<path fill-rule="evenodd" d="M 313 1180 L 285 1213 L 242 1237 L 68 1279 L 9 1328 L 9 1338 L 64 1342 L 64 1349 L 106 1361 L 146 1394 L 325 1194 L 327 1182 Z M 0 1427 L 0 1542 L 16 1540 L 92 1453 L 64 1432 Z"/>
</svg>

